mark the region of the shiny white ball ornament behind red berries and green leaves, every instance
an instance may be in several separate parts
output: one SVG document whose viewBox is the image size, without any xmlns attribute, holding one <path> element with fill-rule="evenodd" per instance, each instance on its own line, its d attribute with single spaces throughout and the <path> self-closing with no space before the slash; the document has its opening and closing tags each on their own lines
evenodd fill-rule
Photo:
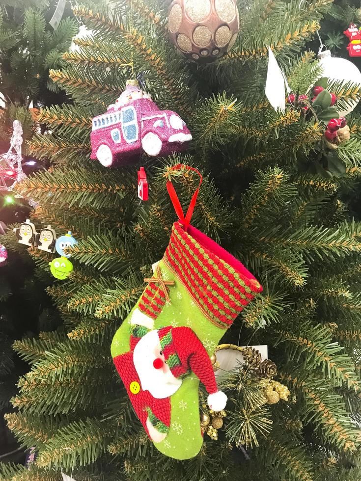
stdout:
<svg viewBox="0 0 361 481">
<path fill-rule="evenodd" d="M 327 77 L 329 80 L 333 81 L 343 81 L 358 83 L 361 87 L 361 72 L 356 67 L 355 64 L 346 60 L 346 58 L 339 58 L 331 56 L 330 50 L 325 50 L 318 54 L 319 64 L 322 67 L 322 77 Z M 353 111 L 357 106 L 358 101 L 352 101 L 344 109 L 338 110 L 340 117 L 344 117 Z M 337 107 L 337 104 L 336 106 Z"/>
</svg>

